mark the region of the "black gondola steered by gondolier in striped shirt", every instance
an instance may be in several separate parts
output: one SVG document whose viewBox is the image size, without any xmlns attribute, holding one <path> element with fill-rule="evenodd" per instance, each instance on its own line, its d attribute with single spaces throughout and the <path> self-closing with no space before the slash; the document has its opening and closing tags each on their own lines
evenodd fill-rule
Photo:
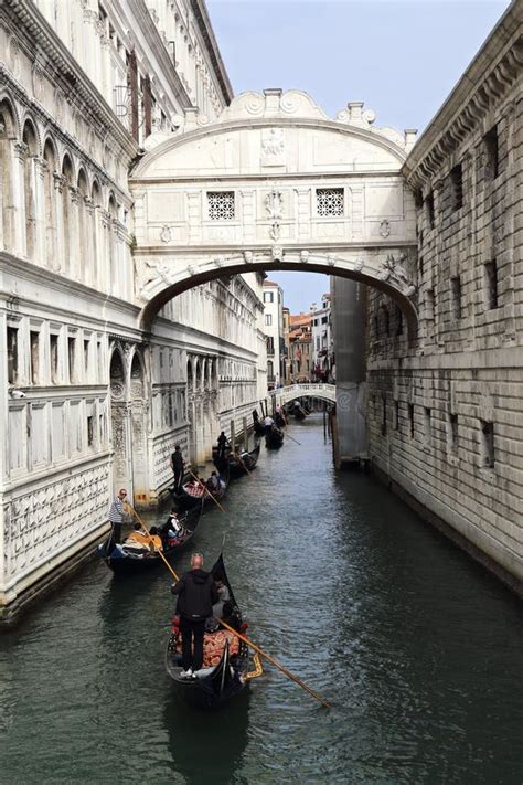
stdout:
<svg viewBox="0 0 523 785">
<path fill-rule="evenodd" d="M 183 534 L 168 543 L 162 550 L 163 556 L 168 561 L 177 553 L 180 553 L 180 551 L 183 551 L 183 549 L 191 542 L 196 533 L 202 510 L 203 505 L 200 502 L 198 507 L 193 507 L 192 510 L 188 510 L 185 515 L 180 517 L 179 522 L 183 527 Z M 108 544 L 109 552 L 107 552 Z M 136 575 L 142 572 L 148 572 L 159 564 L 163 564 L 163 560 L 158 552 L 143 554 L 138 553 L 132 548 L 126 548 L 125 545 L 110 547 L 110 538 L 108 542 L 98 545 L 98 553 L 107 566 L 113 570 L 116 575 Z"/>
</svg>

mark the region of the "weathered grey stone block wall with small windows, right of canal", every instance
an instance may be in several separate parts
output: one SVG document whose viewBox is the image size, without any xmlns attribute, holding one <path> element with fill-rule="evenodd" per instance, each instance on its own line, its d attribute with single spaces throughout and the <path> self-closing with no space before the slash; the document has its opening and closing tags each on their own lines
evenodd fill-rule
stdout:
<svg viewBox="0 0 523 785">
<path fill-rule="evenodd" d="M 521 15 L 513 4 L 407 158 L 418 342 L 374 293 L 369 423 L 376 467 L 523 586 Z"/>
</svg>

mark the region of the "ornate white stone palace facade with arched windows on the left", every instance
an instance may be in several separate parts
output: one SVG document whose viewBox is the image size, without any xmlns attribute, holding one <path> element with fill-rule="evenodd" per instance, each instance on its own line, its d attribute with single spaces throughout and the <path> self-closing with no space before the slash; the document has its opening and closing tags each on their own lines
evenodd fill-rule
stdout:
<svg viewBox="0 0 523 785">
<path fill-rule="evenodd" d="M 201 460 L 265 390 L 263 276 L 140 322 L 128 176 L 232 89 L 200 0 L 0 7 L 0 613 L 103 533 L 114 490 L 153 503 L 178 442 Z"/>
</svg>

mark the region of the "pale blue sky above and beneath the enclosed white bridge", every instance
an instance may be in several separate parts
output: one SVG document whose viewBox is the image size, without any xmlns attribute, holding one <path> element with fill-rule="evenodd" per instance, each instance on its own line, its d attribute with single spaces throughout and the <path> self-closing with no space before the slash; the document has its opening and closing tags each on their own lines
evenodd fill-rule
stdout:
<svg viewBox="0 0 523 785">
<path fill-rule="evenodd" d="M 349 100 L 375 126 L 421 131 L 509 7 L 508 0 L 207 0 L 235 95 L 303 89 L 331 117 Z M 274 273 L 291 312 L 325 276 Z"/>
</svg>

